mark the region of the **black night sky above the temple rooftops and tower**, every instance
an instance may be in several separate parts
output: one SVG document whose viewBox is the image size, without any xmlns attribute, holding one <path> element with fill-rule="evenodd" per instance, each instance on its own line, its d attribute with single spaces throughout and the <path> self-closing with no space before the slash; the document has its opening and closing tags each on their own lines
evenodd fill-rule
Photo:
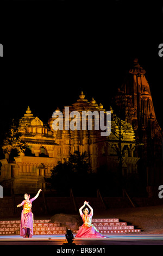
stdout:
<svg viewBox="0 0 163 256">
<path fill-rule="evenodd" d="M 57 107 L 76 102 L 81 90 L 107 110 L 135 57 L 146 70 L 163 127 L 161 1 L 108 2 L 4 3 L 1 134 L 28 106 L 47 123 Z"/>
</svg>

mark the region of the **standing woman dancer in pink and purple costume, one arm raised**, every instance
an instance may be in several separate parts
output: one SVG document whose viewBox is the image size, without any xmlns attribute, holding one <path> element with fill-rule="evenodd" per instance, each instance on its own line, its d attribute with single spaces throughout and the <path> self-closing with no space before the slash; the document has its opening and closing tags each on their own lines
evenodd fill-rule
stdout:
<svg viewBox="0 0 163 256">
<path fill-rule="evenodd" d="M 21 204 L 18 204 L 17 207 L 23 206 L 22 215 L 21 215 L 21 227 L 20 227 L 20 235 L 23 237 L 32 237 L 33 236 L 33 213 L 32 213 L 32 202 L 39 196 L 40 189 L 36 196 L 32 199 L 30 198 L 30 194 L 24 194 L 24 199 Z"/>
</svg>

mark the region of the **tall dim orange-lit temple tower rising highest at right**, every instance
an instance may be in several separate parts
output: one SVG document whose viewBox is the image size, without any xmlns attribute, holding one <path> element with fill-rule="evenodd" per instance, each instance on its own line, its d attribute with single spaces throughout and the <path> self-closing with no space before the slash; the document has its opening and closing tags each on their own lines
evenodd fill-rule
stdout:
<svg viewBox="0 0 163 256">
<path fill-rule="evenodd" d="M 145 69 L 134 59 L 124 83 L 118 89 L 115 101 L 123 110 L 126 121 L 132 124 L 137 143 L 142 144 L 137 154 L 148 165 L 162 161 L 162 130 L 156 120 L 151 90 L 145 74 Z"/>
</svg>

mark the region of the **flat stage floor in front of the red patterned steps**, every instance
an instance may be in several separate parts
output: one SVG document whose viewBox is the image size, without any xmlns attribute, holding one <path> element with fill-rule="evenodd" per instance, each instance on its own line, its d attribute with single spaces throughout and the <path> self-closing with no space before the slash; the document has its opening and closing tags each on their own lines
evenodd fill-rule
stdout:
<svg viewBox="0 0 163 256">
<path fill-rule="evenodd" d="M 0 245 L 66 245 L 65 235 L 34 235 L 32 238 L 23 238 L 19 235 L 0 236 Z M 76 238 L 73 240 L 74 245 L 91 246 L 91 245 L 163 245 L 162 235 L 112 235 L 101 239 Z"/>
</svg>

